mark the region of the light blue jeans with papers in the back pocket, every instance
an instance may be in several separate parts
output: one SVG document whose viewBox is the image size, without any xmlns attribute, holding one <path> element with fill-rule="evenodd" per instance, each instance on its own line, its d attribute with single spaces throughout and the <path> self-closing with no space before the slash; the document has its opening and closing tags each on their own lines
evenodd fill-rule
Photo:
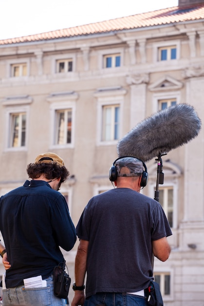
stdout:
<svg viewBox="0 0 204 306">
<path fill-rule="evenodd" d="M 65 300 L 54 295 L 53 277 L 46 279 L 47 287 L 24 288 L 24 285 L 2 290 L 3 306 L 65 306 Z"/>
</svg>

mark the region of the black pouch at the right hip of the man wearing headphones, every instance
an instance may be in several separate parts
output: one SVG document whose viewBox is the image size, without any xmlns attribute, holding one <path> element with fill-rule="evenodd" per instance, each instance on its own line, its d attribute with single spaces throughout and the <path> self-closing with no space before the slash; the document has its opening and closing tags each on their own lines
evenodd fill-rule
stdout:
<svg viewBox="0 0 204 306">
<path fill-rule="evenodd" d="M 145 289 L 148 306 L 164 306 L 159 284 L 150 281 L 148 288 Z"/>
</svg>

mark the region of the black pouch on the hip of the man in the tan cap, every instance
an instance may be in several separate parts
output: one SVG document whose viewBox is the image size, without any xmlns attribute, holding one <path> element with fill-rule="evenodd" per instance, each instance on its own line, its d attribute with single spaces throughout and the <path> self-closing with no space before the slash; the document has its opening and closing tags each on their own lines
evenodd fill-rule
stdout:
<svg viewBox="0 0 204 306">
<path fill-rule="evenodd" d="M 65 272 L 65 263 L 65 261 L 60 262 L 54 268 L 54 295 L 61 299 L 68 299 L 71 284 L 71 278 Z"/>
</svg>

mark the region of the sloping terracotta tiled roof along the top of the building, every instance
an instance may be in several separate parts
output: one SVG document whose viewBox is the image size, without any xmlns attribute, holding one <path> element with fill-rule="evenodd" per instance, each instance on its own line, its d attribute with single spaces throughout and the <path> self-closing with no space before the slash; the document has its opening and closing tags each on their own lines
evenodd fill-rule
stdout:
<svg viewBox="0 0 204 306">
<path fill-rule="evenodd" d="M 0 40 L 0 44 L 37 42 L 57 38 L 68 38 L 80 35 L 100 34 L 111 31 L 156 26 L 175 22 L 186 22 L 190 20 L 194 21 L 199 19 L 204 19 L 204 4 L 183 7 L 182 9 L 179 9 L 179 6 L 174 6 L 148 13 L 111 19 L 103 22 L 95 22 L 71 28 L 59 29 L 51 32 Z"/>
</svg>

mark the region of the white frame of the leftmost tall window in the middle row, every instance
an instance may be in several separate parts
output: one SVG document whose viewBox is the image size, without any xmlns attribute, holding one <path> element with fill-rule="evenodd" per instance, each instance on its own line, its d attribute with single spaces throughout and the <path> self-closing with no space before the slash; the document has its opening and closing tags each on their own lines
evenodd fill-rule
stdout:
<svg viewBox="0 0 204 306">
<path fill-rule="evenodd" d="M 28 144 L 28 122 L 29 122 L 29 107 L 7 107 L 6 113 L 6 132 L 5 132 L 5 151 L 27 151 Z M 26 114 L 26 134 L 25 134 L 25 146 L 11 147 L 11 116 L 12 114 L 25 113 Z"/>
</svg>

